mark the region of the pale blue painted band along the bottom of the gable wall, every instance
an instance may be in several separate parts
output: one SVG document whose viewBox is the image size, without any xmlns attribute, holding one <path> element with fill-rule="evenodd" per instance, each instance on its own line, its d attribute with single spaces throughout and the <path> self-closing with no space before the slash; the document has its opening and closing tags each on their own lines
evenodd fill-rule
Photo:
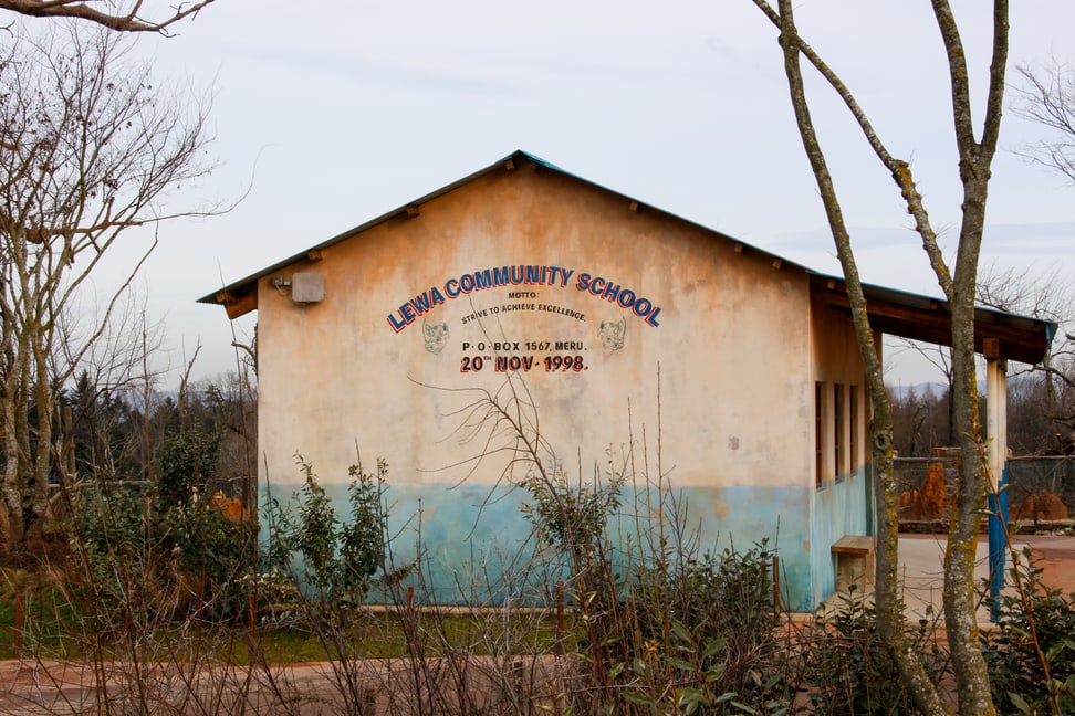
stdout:
<svg viewBox="0 0 1075 716">
<path fill-rule="evenodd" d="M 272 496 L 286 505 L 300 487 L 299 483 L 273 484 Z M 346 485 L 323 487 L 337 515 L 345 518 Z M 622 546 L 624 559 L 644 558 L 647 548 L 639 544 L 656 545 L 661 535 L 668 544 L 685 539 L 699 556 L 727 548 L 745 551 L 768 540 L 766 547 L 775 548 L 780 558 L 783 606 L 806 611 L 816 603 L 817 585 L 833 579 L 832 566 L 820 564 L 816 554 L 811 556 L 811 545 L 827 539 L 810 528 L 811 501 L 816 507 L 818 497 L 813 492 L 756 486 L 687 487 L 670 493 L 628 489 L 609 533 Z M 416 599 L 449 604 L 551 601 L 563 570 L 551 550 L 540 548 L 523 513 L 526 496 L 515 488 L 390 485 L 385 497 L 392 560 L 398 567 L 419 559 L 421 570 L 408 578 Z M 839 512 L 835 506 L 825 509 Z M 818 569 L 826 568 L 818 577 Z"/>
</svg>

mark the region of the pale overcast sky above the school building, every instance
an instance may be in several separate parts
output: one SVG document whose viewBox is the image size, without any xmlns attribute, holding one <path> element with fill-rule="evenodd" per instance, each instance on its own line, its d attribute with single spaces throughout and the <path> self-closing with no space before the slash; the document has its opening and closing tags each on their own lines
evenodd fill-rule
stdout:
<svg viewBox="0 0 1075 716">
<path fill-rule="evenodd" d="M 989 6 L 953 2 L 979 110 Z M 928 0 L 801 0 L 796 13 L 953 234 L 949 87 Z M 1011 25 L 1012 82 L 1015 64 L 1075 60 L 1072 0 L 1013 2 Z M 838 273 L 776 32 L 750 0 L 217 0 L 178 33 L 138 38 L 137 51 L 164 82 L 212 87 L 221 166 L 199 191 L 249 194 L 227 215 L 161 229 L 144 285 L 174 366 L 200 341 L 197 373 L 234 367 L 223 310 L 196 298 L 514 149 Z M 864 278 L 938 295 L 886 171 L 827 87 L 807 90 Z M 1040 138 L 1006 114 L 983 264 L 1075 275 L 1075 186 L 1012 151 Z M 919 379 L 901 370 L 890 375 Z"/>
</svg>

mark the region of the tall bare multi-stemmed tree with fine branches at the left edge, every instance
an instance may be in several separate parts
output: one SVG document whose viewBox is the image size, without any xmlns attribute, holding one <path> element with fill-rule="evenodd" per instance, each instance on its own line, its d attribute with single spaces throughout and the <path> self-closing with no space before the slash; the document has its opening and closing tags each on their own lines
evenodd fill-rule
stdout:
<svg viewBox="0 0 1075 716">
<path fill-rule="evenodd" d="M 166 213 L 165 201 L 211 168 L 209 103 L 157 90 L 116 38 L 79 28 L 40 41 L 20 34 L 0 60 L 0 527 L 8 548 L 24 546 L 45 516 L 59 391 L 106 335 L 159 222 L 196 213 Z M 121 253 L 129 257 L 126 278 L 72 334 L 77 297 L 101 288 L 90 277 Z"/>
</svg>

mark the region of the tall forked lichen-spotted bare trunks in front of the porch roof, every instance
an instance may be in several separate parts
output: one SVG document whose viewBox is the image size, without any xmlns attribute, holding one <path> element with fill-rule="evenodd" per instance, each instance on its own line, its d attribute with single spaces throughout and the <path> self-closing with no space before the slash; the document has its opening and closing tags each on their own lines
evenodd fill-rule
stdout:
<svg viewBox="0 0 1075 716">
<path fill-rule="evenodd" d="M 956 145 L 959 152 L 959 176 L 963 196 L 962 221 L 956 264 L 949 267 L 937 242 L 922 197 L 910 165 L 893 156 L 881 143 L 866 113 L 836 73 L 799 35 L 792 0 L 779 0 L 779 10 L 766 0 L 754 3 L 780 29 L 780 44 L 784 54 L 784 70 L 791 91 L 792 106 L 799 124 L 806 156 L 824 202 L 836 252 L 847 285 L 852 319 L 859 350 L 866 368 L 866 381 L 874 408 L 872 424 L 872 459 L 878 482 L 877 498 L 878 555 L 876 608 L 878 630 L 889 645 L 905 685 L 914 694 L 918 707 L 927 714 L 951 713 L 937 687 L 930 682 L 919 654 L 908 643 L 899 610 L 897 549 L 897 486 L 893 471 L 893 414 L 885 390 L 884 375 L 874 335 L 870 329 L 866 299 L 855 261 L 850 235 L 844 223 L 836 190 L 829 175 L 824 151 L 814 129 L 810 104 L 803 85 L 800 59 L 806 60 L 837 92 L 854 119 L 889 171 L 907 211 L 914 219 L 937 282 L 948 299 L 951 315 L 952 373 L 954 429 L 964 460 L 960 470 L 957 494 L 952 505 L 949 546 L 944 558 L 944 620 L 951 645 L 952 666 L 960 714 L 994 714 L 989 675 L 978 641 L 974 599 L 974 556 L 981 515 L 985 507 L 989 485 L 985 466 L 979 455 L 980 424 L 978 386 L 974 359 L 974 291 L 978 262 L 985 219 L 985 198 L 990 166 L 996 150 L 1001 108 L 1004 97 L 1004 76 L 1008 66 L 1008 1 L 993 2 L 993 44 L 990 59 L 984 123 L 981 139 L 975 136 L 970 102 L 970 76 L 959 27 L 948 0 L 931 0 L 948 57 L 951 82 L 952 115 Z"/>
</svg>

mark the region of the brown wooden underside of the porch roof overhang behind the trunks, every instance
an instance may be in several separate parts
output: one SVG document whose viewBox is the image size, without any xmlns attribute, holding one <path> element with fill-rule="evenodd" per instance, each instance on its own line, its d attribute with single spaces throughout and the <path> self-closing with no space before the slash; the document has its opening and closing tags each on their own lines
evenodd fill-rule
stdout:
<svg viewBox="0 0 1075 716">
<path fill-rule="evenodd" d="M 863 291 L 869 325 L 875 330 L 940 346 L 952 345 L 947 301 L 869 284 Z M 843 278 L 812 273 L 811 293 L 850 316 Z M 987 358 L 1040 364 L 1047 356 L 1054 335 L 1056 324 L 1048 320 L 981 306 L 974 309 L 974 350 Z"/>
</svg>

